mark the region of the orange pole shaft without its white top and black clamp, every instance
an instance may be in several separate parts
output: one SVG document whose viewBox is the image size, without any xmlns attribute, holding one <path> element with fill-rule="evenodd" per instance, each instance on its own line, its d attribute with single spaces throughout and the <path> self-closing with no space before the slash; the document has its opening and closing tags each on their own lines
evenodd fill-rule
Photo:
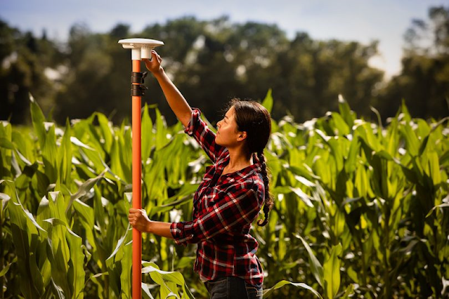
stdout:
<svg viewBox="0 0 449 299">
<path fill-rule="evenodd" d="M 141 60 L 132 60 L 133 72 L 141 72 Z M 142 208 L 141 198 L 141 96 L 133 96 L 133 208 Z M 133 228 L 133 299 L 142 298 L 142 234 Z"/>
</svg>

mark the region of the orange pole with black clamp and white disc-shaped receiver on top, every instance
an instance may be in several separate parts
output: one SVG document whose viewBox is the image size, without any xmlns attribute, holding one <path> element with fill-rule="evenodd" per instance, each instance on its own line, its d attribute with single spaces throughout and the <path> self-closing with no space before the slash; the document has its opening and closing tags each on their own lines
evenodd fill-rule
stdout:
<svg viewBox="0 0 449 299">
<path fill-rule="evenodd" d="M 141 107 L 142 95 L 145 87 L 142 86 L 145 74 L 141 73 L 141 58 L 151 58 L 151 50 L 162 46 L 162 41 L 154 39 L 121 39 L 119 44 L 123 48 L 131 48 L 132 74 L 132 152 L 133 152 L 133 208 L 142 208 L 142 163 L 141 163 Z M 133 267 L 132 267 L 132 298 L 142 298 L 142 235 L 133 228 Z"/>
</svg>

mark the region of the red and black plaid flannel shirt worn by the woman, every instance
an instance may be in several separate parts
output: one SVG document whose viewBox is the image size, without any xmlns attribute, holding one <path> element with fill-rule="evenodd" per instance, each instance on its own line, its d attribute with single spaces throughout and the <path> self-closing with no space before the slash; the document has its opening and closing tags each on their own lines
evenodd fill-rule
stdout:
<svg viewBox="0 0 449 299">
<path fill-rule="evenodd" d="M 203 281 L 235 276 L 261 286 L 263 270 L 256 257 L 259 244 L 249 234 L 265 197 L 260 164 L 221 175 L 229 163 L 229 152 L 216 145 L 215 133 L 200 114 L 193 109 L 186 133 L 199 142 L 214 165 L 206 168 L 193 197 L 193 220 L 171 223 L 171 234 L 176 244 L 197 244 L 193 269 Z M 258 162 L 256 155 L 253 161 Z"/>
</svg>

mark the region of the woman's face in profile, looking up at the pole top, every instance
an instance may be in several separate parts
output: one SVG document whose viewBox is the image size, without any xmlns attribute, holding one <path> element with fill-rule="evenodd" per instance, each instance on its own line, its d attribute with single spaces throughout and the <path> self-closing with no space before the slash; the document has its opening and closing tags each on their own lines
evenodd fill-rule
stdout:
<svg viewBox="0 0 449 299">
<path fill-rule="evenodd" d="M 234 147 L 246 138 L 246 132 L 237 130 L 234 106 L 230 107 L 221 121 L 216 124 L 215 142 L 223 147 Z"/>
</svg>

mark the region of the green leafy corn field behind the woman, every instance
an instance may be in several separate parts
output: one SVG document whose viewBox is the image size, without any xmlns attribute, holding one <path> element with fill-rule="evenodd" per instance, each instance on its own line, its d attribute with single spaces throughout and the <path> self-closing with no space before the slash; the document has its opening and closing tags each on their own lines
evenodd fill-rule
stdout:
<svg viewBox="0 0 449 299">
<path fill-rule="evenodd" d="M 131 127 L 98 112 L 58 127 L 30 105 L 32 127 L 0 124 L 0 298 L 130 298 Z M 273 121 L 275 205 L 252 228 L 264 298 L 449 296 L 448 118 L 413 119 L 403 105 L 382 124 L 372 110 L 376 123 L 339 98 L 319 119 Z M 181 123 L 145 105 L 150 219 L 190 220 L 209 165 Z M 208 297 L 195 246 L 151 234 L 142 244 L 144 298 Z"/>
</svg>

